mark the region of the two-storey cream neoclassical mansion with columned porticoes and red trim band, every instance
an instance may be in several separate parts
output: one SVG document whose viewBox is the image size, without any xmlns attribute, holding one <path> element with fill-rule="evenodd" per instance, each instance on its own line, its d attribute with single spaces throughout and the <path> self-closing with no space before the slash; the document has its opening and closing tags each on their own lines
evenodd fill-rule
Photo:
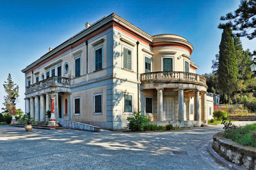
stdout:
<svg viewBox="0 0 256 170">
<path fill-rule="evenodd" d="M 201 125 L 213 100 L 192 52 L 186 38 L 150 36 L 112 13 L 22 69 L 26 113 L 45 122 L 54 104 L 56 118 L 111 130 L 124 129 L 133 111 L 153 124 Z"/>
</svg>

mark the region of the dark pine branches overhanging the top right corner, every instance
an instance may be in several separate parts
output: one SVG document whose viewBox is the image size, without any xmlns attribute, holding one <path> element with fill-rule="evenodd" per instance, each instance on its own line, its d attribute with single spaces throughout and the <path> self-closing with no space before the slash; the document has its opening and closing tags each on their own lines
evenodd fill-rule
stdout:
<svg viewBox="0 0 256 170">
<path fill-rule="evenodd" d="M 246 36 L 248 39 L 256 37 L 256 0 L 243 0 L 239 4 L 239 8 L 234 13 L 227 13 L 220 20 L 229 20 L 225 24 L 218 27 L 224 29 L 232 28 L 233 31 L 240 31 L 236 36 Z"/>
</svg>

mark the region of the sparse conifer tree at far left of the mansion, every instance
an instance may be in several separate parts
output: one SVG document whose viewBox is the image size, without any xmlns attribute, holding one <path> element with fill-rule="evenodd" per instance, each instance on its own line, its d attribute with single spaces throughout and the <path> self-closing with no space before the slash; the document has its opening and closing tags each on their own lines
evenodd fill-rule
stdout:
<svg viewBox="0 0 256 170">
<path fill-rule="evenodd" d="M 4 108 L 2 108 L 3 110 L 2 113 L 4 113 L 5 115 L 8 115 L 12 111 L 11 98 L 15 97 L 17 99 L 17 97 L 19 97 L 19 85 L 17 85 L 12 81 L 12 76 L 9 73 L 7 81 L 4 81 L 3 87 L 4 87 L 4 91 L 6 92 L 6 96 L 4 96 L 4 103 L 3 103 Z"/>
</svg>

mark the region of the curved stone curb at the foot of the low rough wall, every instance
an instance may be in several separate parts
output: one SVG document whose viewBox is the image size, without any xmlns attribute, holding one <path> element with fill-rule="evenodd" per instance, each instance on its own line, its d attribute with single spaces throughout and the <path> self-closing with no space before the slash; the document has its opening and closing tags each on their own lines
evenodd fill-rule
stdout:
<svg viewBox="0 0 256 170">
<path fill-rule="evenodd" d="M 229 169 L 245 169 L 244 167 L 241 166 L 237 166 L 236 164 L 233 164 L 232 162 L 228 162 L 227 160 L 225 160 L 223 157 L 221 157 L 217 152 L 215 152 L 212 149 L 212 141 L 208 144 L 207 146 L 208 148 L 208 152 L 210 153 L 210 155 L 216 159 L 218 162 L 220 162 L 221 164 L 223 164 L 223 166 L 229 168 Z"/>
</svg>

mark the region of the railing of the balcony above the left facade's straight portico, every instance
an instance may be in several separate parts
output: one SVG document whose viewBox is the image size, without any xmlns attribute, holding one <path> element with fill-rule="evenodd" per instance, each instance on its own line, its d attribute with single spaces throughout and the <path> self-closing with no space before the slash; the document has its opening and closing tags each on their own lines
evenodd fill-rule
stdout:
<svg viewBox="0 0 256 170">
<path fill-rule="evenodd" d="M 70 78 L 51 76 L 45 80 L 38 81 L 26 87 L 26 92 L 31 92 L 34 90 L 44 89 L 51 85 L 56 85 L 56 87 L 70 87 Z"/>
</svg>

